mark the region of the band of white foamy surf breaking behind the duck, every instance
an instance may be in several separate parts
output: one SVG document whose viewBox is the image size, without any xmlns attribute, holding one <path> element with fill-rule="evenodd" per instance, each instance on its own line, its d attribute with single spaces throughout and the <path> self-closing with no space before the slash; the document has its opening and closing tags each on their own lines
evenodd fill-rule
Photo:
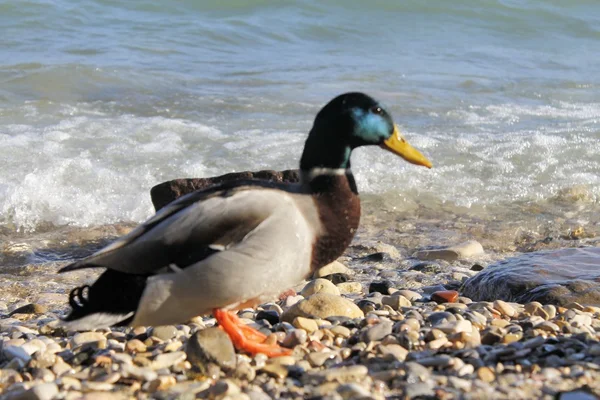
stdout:
<svg viewBox="0 0 600 400">
<path fill-rule="evenodd" d="M 143 221 L 153 213 L 149 189 L 165 180 L 296 168 L 311 122 L 294 118 L 286 128 L 268 118 L 241 119 L 210 126 L 111 116 L 90 105 L 58 107 L 57 115 L 52 121 L 39 113 L 30 124 L 0 131 L 0 223 L 27 230 Z M 404 132 L 433 169 L 373 147 L 354 153 L 353 170 L 361 192 L 392 193 L 399 203 L 538 201 L 577 185 L 598 199 L 598 115 L 598 103 L 457 108 L 432 117 L 426 129 Z"/>
</svg>

